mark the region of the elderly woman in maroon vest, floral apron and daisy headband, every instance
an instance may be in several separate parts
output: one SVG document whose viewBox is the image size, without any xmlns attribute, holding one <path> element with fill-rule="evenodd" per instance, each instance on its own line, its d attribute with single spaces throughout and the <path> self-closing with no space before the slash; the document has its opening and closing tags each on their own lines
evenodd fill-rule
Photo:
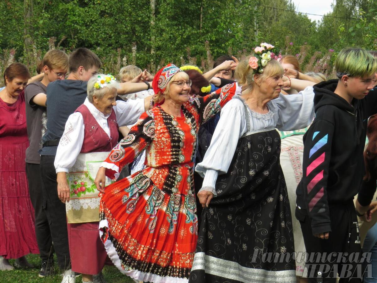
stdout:
<svg viewBox="0 0 377 283">
<path fill-rule="evenodd" d="M 101 270 L 107 258 L 98 232 L 100 198 L 93 180 L 118 143 L 118 127 L 135 123 L 147 110 L 144 99 L 115 102 L 118 85 L 112 75 L 90 78 L 87 98 L 69 116 L 55 157 L 58 196 L 66 203 L 72 271 L 81 273 L 83 282 L 104 282 Z M 69 283 L 74 282 L 72 276 Z"/>
</svg>

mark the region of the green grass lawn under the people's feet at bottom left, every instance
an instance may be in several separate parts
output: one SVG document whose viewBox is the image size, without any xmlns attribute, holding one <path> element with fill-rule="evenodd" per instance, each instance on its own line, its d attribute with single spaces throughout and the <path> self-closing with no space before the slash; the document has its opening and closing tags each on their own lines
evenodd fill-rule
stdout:
<svg viewBox="0 0 377 283">
<path fill-rule="evenodd" d="M 40 258 L 39 255 L 27 255 L 28 261 L 35 266 L 31 269 L 14 269 L 11 271 L 0 271 L 0 282 L 27 282 L 27 283 L 60 283 L 61 276 L 57 271 L 54 276 L 49 276 L 45 278 L 39 278 L 38 272 L 40 269 Z M 11 265 L 13 265 L 14 260 L 9 260 Z M 55 269 L 57 270 L 55 257 Z M 115 266 L 105 266 L 103 269 L 103 275 L 107 283 L 133 283 L 134 281 L 120 273 L 120 271 Z M 81 277 L 76 278 L 76 283 L 81 283 Z"/>
</svg>

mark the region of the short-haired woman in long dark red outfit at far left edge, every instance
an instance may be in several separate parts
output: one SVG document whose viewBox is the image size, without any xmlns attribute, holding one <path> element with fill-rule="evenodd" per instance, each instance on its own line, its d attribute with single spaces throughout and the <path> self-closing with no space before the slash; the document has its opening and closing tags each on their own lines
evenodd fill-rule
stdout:
<svg viewBox="0 0 377 283">
<path fill-rule="evenodd" d="M 31 267 L 25 255 L 38 254 L 34 210 L 25 172 L 26 131 L 24 88 L 30 73 L 25 65 L 13 63 L 4 72 L 0 91 L 0 270 Z"/>
</svg>

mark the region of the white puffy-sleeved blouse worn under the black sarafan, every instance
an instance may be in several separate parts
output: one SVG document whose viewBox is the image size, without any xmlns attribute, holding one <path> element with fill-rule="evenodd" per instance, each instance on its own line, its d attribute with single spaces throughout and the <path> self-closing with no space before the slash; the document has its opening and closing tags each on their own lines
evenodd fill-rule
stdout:
<svg viewBox="0 0 377 283">
<path fill-rule="evenodd" d="M 201 163 L 195 171 L 204 177 L 202 188 L 214 192 L 219 174 L 225 174 L 230 166 L 239 138 L 266 129 L 290 131 L 302 129 L 310 125 L 314 118 L 314 92 L 308 86 L 299 94 L 280 94 L 267 103 L 267 114 L 251 111 L 234 98 L 221 110 L 219 123 L 213 133 L 211 144 Z M 248 115 L 249 119 L 245 115 Z M 247 121 L 250 122 L 250 132 L 247 132 Z M 212 188 L 212 189 L 210 189 Z"/>
</svg>

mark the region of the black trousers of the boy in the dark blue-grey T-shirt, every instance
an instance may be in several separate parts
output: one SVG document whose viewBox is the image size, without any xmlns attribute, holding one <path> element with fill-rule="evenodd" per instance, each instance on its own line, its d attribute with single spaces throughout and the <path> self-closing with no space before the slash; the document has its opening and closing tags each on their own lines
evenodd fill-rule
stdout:
<svg viewBox="0 0 377 283">
<path fill-rule="evenodd" d="M 58 198 L 54 160 L 55 156 L 41 156 L 42 192 L 44 210 L 50 226 L 51 239 L 54 243 L 58 265 L 65 270 L 70 268 L 66 205 Z"/>
</svg>

